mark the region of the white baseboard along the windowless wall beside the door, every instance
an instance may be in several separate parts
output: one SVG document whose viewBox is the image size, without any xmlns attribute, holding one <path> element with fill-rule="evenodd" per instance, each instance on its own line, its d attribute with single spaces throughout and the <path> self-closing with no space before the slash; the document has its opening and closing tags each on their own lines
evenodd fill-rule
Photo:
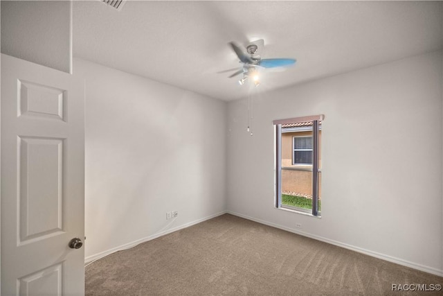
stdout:
<svg viewBox="0 0 443 296">
<path fill-rule="evenodd" d="M 132 241 L 132 242 L 130 242 L 130 243 L 125 243 L 124 245 L 119 245 L 118 247 L 113 247 L 113 248 L 111 248 L 111 249 L 109 249 L 109 250 L 106 250 L 106 251 L 103 251 L 103 252 L 100 252 L 100 253 L 97 253 L 97 254 L 93 254 L 93 255 L 91 255 L 91 256 L 87 256 L 87 257 L 84 259 L 84 263 L 85 263 L 85 264 L 87 264 L 87 263 L 91 263 L 91 262 L 93 262 L 93 261 L 96 261 L 96 260 L 98 260 L 98 259 L 101 259 L 101 258 L 103 258 L 103 257 L 105 257 L 105 256 L 107 256 L 107 255 L 109 255 L 109 254 L 114 253 L 114 252 L 118 252 L 118 251 L 121 251 L 121 250 L 127 250 L 127 249 L 130 249 L 131 247 L 135 247 L 135 246 L 138 245 L 138 244 L 145 243 L 146 241 L 151 241 L 151 240 L 153 240 L 154 238 L 158 238 L 158 237 L 160 237 L 160 236 L 164 236 L 164 235 L 166 235 L 166 234 L 170 234 L 170 233 L 172 233 L 172 232 L 177 232 L 177 230 L 180 230 L 180 229 L 183 229 L 183 228 L 186 228 L 186 227 L 190 227 L 190 226 L 192 226 L 192 225 L 195 225 L 195 224 L 201 223 L 201 222 L 203 222 L 203 221 L 206 221 L 206 220 L 209 220 L 209 219 L 215 218 L 215 217 L 217 217 L 217 216 L 221 216 L 221 215 L 226 214 L 226 213 L 227 213 L 227 211 L 221 211 L 221 212 L 219 212 L 219 213 L 217 213 L 217 214 L 213 214 L 213 215 L 210 215 L 210 216 L 207 216 L 207 217 L 201 218 L 201 219 L 197 219 L 197 220 L 194 220 L 194 221 L 192 221 L 192 222 L 190 222 L 190 223 L 185 223 L 185 224 L 183 224 L 183 225 L 179 225 L 179 226 L 177 226 L 177 227 L 174 227 L 174 228 L 171 228 L 171 229 L 168 229 L 168 230 L 165 230 L 165 231 L 161 231 L 161 232 L 158 232 L 158 233 L 156 233 L 156 234 L 152 234 L 152 235 L 147 236 L 147 237 L 145 237 L 145 238 L 141 238 L 141 239 L 138 239 L 138 240 L 136 240 L 136 241 Z"/>
</svg>

